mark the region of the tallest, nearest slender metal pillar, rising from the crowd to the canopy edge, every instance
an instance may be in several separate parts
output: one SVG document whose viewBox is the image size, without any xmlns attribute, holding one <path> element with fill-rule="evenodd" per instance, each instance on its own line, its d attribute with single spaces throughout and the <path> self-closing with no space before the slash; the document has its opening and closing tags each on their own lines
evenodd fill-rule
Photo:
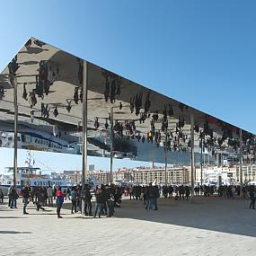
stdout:
<svg viewBox="0 0 256 256">
<path fill-rule="evenodd" d="M 87 62 L 84 61 L 83 71 L 83 169 L 82 169 L 82 196 L 84 196 L 87 181 Z M 82 214 L 84 214 L 84 200 L 82 200 Z"/>
</svg>

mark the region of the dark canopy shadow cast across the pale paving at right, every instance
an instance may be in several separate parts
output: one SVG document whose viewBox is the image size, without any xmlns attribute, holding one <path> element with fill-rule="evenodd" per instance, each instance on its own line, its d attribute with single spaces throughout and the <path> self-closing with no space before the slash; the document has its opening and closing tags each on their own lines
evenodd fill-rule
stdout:
<svg viewBox="0 0 256 256">
<path fill-rule="evenodd" d="M 249 209 L 247 200 L 215 197 L 194 201 L 159 199 L 158 208 L 146 211 L 142 201 L 124 200 L 115 216 L 256 237 L 256 210 Z"/>
</svg>

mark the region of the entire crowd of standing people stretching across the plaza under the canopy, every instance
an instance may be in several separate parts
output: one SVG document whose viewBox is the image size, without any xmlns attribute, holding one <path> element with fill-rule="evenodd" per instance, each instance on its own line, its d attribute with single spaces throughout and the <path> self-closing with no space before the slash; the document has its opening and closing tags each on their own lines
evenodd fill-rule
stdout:
<svg viewBox="0 0 256 256">
<path fill-rule="evenodd" d="M 218 196 L 220 198 L 234 199 L 240 197 L 240 186 L 195 186 L 195 196 Z M 119 187 L 117 185 L 101 185 L 92 189 L 85 184 L 84 190 L 79 185 L 62 190 L 60 187 L 30 187 L 29 182 L 25 187 L 17 192 L 14 186 L 8 189 L 8 207 L 17 208 L 17 199 L 22 197 L 23 214 L 27 212 L 27 205 L 31 202 L 36 206 L 36 210 L 45 210 L 45 207 L 57 207 L 57 217 L 60 215 L 61 207 L 66 199 L 71 201 L 71 214 L 76 212 L 84 213 L 85 216 L 107 216 L 114 215 L 115 207 L 120 207 L 121 198 L 124 195 L 130 200 L 142 200 L 146 210 L 158 210 L 157 199 L 163 196 L 163 199 L 189 200 L 191 194 L 190 186 L 163 186 L 154 185 L 150 182 L 148 186 L 129 186 Z M 95 207 L 93 212 L 92 199 L 95 197 Z M 250 208 L 255 208 L 256 188 L 255 186 L 245 185 L 242 188 L 242 198 L 251 199 Z M 4 192 L 0 189 L 0 203 L 4 203 Z"/>
</svg>

